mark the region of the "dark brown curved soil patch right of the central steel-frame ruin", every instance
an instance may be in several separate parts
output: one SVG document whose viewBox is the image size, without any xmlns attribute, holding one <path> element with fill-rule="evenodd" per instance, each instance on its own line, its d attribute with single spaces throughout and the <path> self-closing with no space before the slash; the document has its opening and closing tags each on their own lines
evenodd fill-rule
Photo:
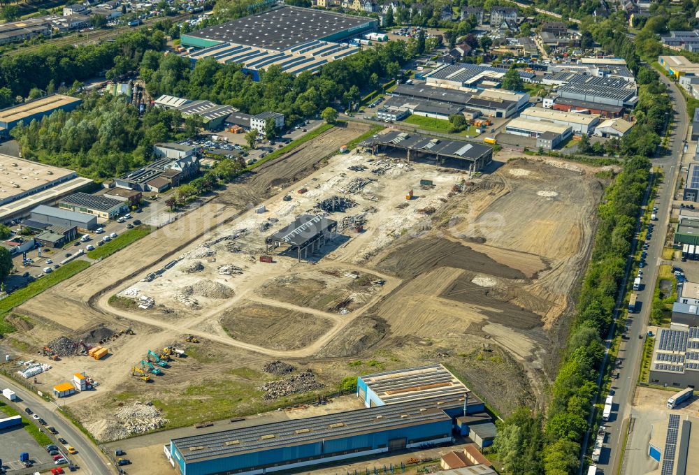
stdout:
<svg viewBox="0 0 699 475">
<path fill-rule="evenodd" d="M 394 272 L 401 279 L 416 277 L 438 267 L 482 272 L 503 279 L 526 279 L 526 275 L 520 270 L 498 263 L 459 242 L 444 238 L 412 239 L 379 263 L 381 270 Z"/>
</svg>

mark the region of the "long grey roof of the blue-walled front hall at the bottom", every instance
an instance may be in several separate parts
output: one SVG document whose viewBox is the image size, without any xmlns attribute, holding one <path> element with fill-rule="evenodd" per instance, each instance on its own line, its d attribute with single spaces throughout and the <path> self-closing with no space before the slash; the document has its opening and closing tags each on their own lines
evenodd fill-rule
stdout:
<svg viewBox="0 0 699 475">
<path fill-rule="evenodd" d="M 356 411 L 282 421 L 172 439 L 186 462 L 230 457 L 241 453 L 312 444 L 412 425 L 450 421 L 443 409 L 463 405 L 462 397 L 435 397 L 428 400 L 389 404 Z"/>
</svg>

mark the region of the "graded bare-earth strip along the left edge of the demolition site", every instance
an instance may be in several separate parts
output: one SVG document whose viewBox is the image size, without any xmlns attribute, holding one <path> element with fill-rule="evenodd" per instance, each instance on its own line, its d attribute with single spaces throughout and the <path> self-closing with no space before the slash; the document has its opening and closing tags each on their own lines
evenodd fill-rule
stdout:
<svg viewBox="0 0 699 475">
<path fill-rule="evenodd" d="M 25 302 L 17 312 L 50 321 L 52 326 L 66 333 L 79 333 L 97 323 L 110 321 L 108 315 L 93 308 L 90 302 L 143 270 L 157 263 L 167 263 L 203 234 L 240 216 L 246 208 L 272 196 L 282 186 L 308 175 L 329 150 L 338 149 L 367 130 L 367 126 L 355 123 L 335 127 L 289 154 L 264 163 L 175 223 Z"/>
</svg>

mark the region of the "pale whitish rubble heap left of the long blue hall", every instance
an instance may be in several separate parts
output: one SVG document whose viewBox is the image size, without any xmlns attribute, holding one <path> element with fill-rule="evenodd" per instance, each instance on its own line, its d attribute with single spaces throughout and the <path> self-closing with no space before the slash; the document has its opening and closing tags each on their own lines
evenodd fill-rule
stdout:
<svg viewBox="0 0 699 475">
<path fill-rule="evenodd" d="M 134 402 L 116 411 L 114 418 L 103 419 L 85 426 L 96 439 L 103 442 L 124 439 L 163 427 L 168 420 L 150 402 Z"/>
</svg>

